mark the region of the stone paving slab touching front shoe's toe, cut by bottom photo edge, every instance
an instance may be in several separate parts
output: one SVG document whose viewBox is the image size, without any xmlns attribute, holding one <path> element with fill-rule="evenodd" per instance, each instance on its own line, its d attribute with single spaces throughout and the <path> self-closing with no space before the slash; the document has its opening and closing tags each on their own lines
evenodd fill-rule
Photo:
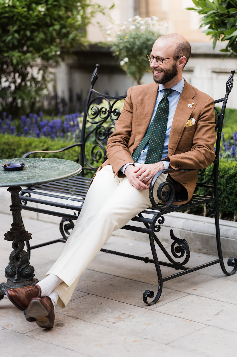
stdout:
<svg viewBox="0 0 237 357">
<path fill-rule="evenodd" d="M 54 343 L 57 346 L 71 348 L 91 357 L 144 357 L 146 355 L 162 357 L 194 357 L 195 353 L 163 344 L 160 341 L 147 341 L 139 335 L 117 331 L 78 318 L 61 315 L 59 328 L 44 331 L 42 328 L 28 332 L 34 339 Z"/>
</svg>

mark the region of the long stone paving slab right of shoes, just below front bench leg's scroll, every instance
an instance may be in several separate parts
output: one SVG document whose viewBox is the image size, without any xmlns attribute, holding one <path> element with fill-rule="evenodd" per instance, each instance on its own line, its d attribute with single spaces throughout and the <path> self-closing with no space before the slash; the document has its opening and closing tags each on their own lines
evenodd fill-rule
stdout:
<svg viewBox="0 0 237 357">
<path fill-rule="evenodd" d="M 59 308 L 56 311 L 60 312 Z M 142 307 L 93 295 L 84 296 L 80 302 L 70 301 L 61 313 L 162 343 L 169 343 L 206 326 L 182 317 L 154 313 Z"/>
</svg>

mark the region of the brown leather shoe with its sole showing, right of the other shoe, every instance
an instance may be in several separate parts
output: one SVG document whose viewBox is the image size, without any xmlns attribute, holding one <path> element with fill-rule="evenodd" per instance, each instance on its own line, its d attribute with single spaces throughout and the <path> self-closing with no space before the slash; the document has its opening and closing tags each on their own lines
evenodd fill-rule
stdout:
<svg viewBox="0 0 237 357">
<path fill-rule="evenodd" d="M 36 318 L 38 326 L 42 328 L 54 327 L 54 305 L 48 296 L 33 298 L 26 310 L 26 313 L 28 316 Z"/>
</svg>

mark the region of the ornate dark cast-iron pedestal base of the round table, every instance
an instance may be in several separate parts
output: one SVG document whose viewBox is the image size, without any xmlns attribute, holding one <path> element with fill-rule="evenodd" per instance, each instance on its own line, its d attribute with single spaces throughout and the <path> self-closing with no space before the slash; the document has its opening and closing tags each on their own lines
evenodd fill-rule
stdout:
<svg viewBox="0 0 237 357">
<path fill-rule="evenodd" d="M 9 264 L 5 269 L 6 283 L 0 284 L 0 300 L 5 295 L 5 290 L 9 288 L 18 288 L 22 286 L 29 286 L 36 284 L 38 280 L 34 278 L 35 269 L 29 263 L 29 257 L 24 251 L 25 243 L 31 239 L 31 233 L 25 231 L 23 223 L 21 222 L 21 204 L 19 198 L 20 186 L 13 186 L 7 188 L 11 193 L 12 224 L 10 231 L 4 234 L 7 241 L 12 242 L 13 251 L 9 257 Z"/>
</svg>

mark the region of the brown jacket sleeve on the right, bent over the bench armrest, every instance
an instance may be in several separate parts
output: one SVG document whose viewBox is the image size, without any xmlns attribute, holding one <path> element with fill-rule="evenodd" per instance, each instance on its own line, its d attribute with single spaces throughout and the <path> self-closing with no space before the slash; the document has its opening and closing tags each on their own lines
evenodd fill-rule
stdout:
<svg viewBox="0 0 237 357">
<path fill-rule="evenodd" d="M 214 101 L 209 97 L 198 117 L 191 150 L 170 156 L 170 166 L 173 169 L 178 166 L 182 169 L 204 169 L 211 165 L 215 159 L 215 140 Z"/>
</svg>

